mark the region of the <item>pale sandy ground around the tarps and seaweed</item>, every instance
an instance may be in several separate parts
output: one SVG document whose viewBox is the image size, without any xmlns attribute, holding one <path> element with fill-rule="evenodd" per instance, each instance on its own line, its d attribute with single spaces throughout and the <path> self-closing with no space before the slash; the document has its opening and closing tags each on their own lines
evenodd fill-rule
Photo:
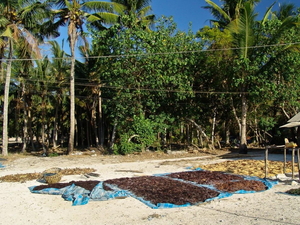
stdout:
<svg viewBox="0 0 300 225">
<path fill-rule="evenodd" d="M 262 152 L 249 152 L 262 159 Z M 270 154 L 270 160 L 282 160 L 282 155 Z M 288 155 L 288 160 L 291 156 Z M 205 159 L 205 156 L 180 159 L 160 159 L 137 162 L 121 162 L 120 158 L 108 160 L 101 157 L 19 158 L 5 162 L 0 176 L 15 173 L 42 172 L 51 167 L 90 167 L 106 180 L 155 173 L 184 171 L 185 167 L 228 159 Z M 143 173 L 117 172 L 116 170 L 140 170 Z M 96 179 L 96 178 L 89 178 Z M 87 180 L 84 176 L 64 176 L 62 180 Z M 273 189 L 252 194 L 235 194 L 198 206 L 151 209 L 132 197 L 103 202 L 89 202 L 83 206 L 71 206 L 61 196 L 32 194 L 28 187 L 39 185 L 37 181 L 25 183 L 0 183 L 0 224 L 300 224 L 298 219 L 300 197 L 278 194 L 278 191 L 295 188 L 290 184 L 278 184 Z M 159 214 L 158 218 L 149 218 Z"/>
</svg>

